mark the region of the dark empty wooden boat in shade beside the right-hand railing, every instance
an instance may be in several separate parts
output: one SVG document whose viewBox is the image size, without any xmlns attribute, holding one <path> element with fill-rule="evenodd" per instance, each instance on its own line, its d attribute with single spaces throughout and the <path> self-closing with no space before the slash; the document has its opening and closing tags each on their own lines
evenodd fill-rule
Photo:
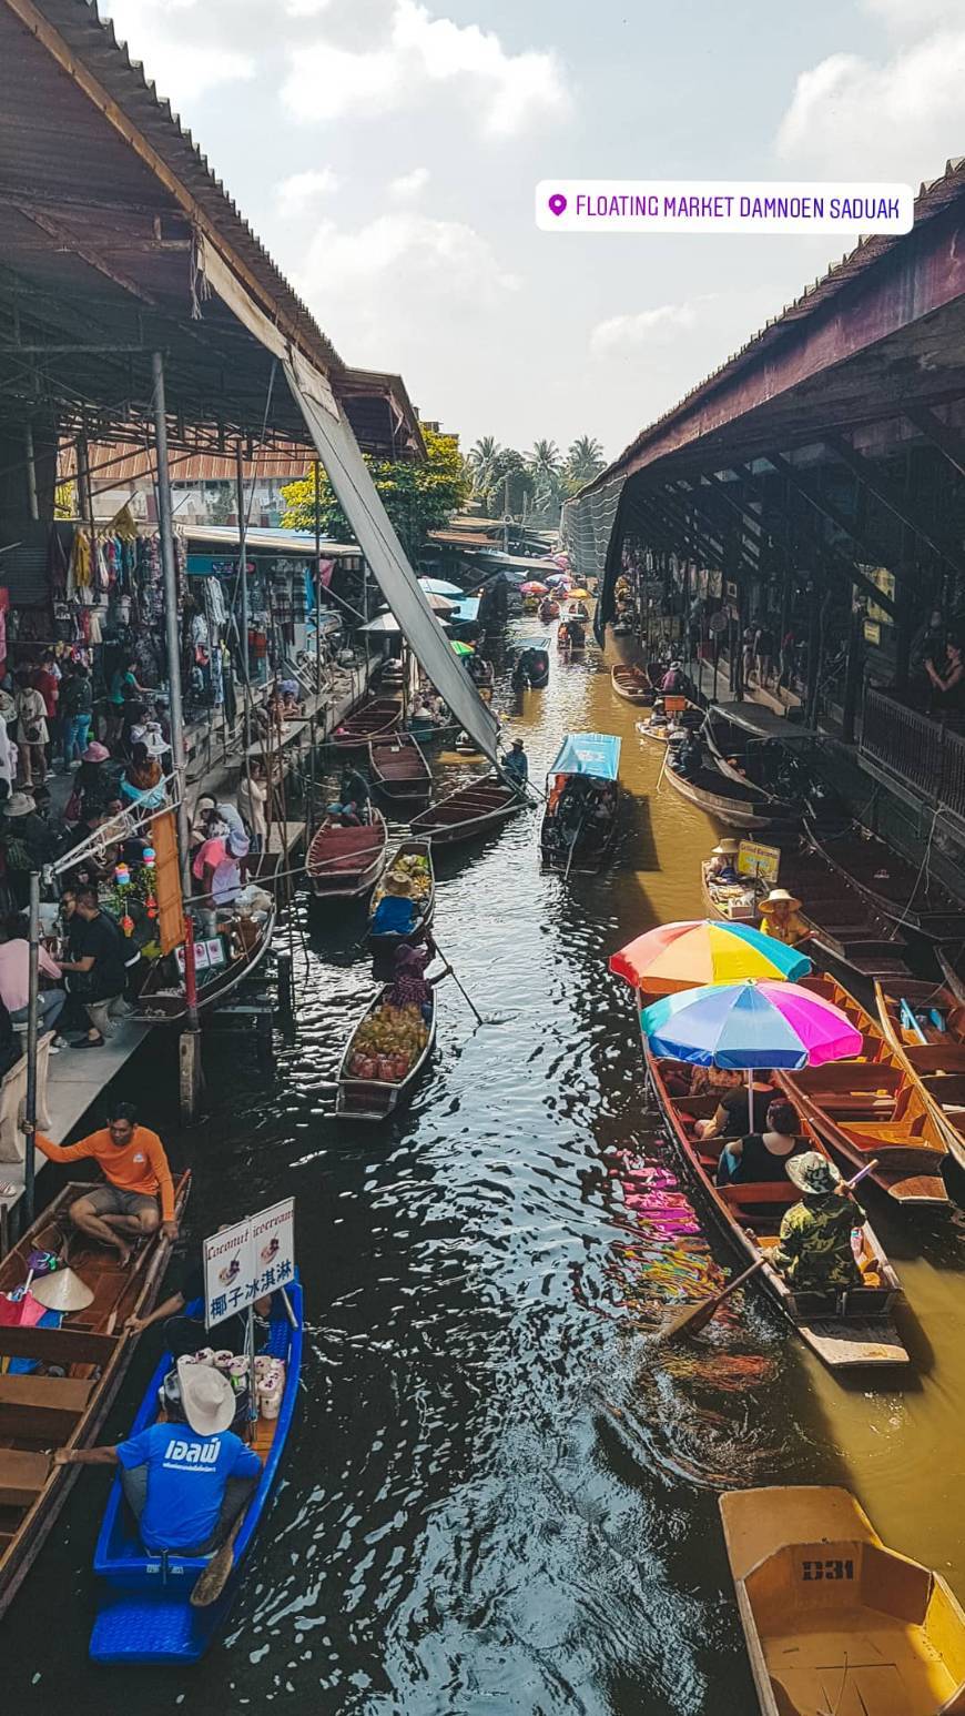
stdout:
<svg viewBox="0 0 965 1716">
<path fill-rule="evenodd" d="M 965 940 L 965 906 L 941 882 L 910 863 L 878 834 L 852 824 L 826 834 L 806 820 L 807 837 L 862 894 L 898 925 L 936 942 Z"/>
</svg>

